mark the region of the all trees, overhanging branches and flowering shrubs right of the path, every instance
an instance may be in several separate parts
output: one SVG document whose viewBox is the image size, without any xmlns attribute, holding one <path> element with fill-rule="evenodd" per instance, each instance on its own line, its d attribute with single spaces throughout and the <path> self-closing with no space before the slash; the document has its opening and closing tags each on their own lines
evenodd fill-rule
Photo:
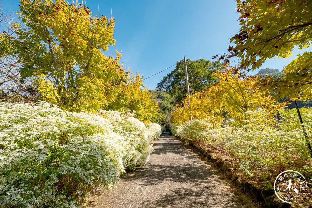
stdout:
<svg viewBox="0 0 312 208">
<path fill-rule="evenodd" d="M 267 189 L 289 169 L 312 181 L 311 52 L 299 54 L 282 71 L 248 72 L 266 59 L 289 57 L 295 47 L 311 46 L 310 3 L 237 0 L 240 31 L 228 54 L 213 57 L 224 61 L 224 70 L 212 74 L 217 79 L 209 88 L 186 95 L 172 113 L 174 135 L 223 152 L 233 167 Z M 235 67 L 233 57 L 239 60 Z"/>
</svg>

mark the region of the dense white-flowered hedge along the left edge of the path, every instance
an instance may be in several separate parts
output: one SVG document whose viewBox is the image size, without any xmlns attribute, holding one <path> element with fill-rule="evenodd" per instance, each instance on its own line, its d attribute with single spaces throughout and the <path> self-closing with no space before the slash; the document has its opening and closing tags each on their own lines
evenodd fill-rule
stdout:
<svg viewBox="0 0 312 208">
<path fill-rule="evenodd" d="M 90 186 L 146 164 L 154 129 L 130 113 L 99 114 L 0 103 L 0 206 L 77 207 Z"/>
</svg>

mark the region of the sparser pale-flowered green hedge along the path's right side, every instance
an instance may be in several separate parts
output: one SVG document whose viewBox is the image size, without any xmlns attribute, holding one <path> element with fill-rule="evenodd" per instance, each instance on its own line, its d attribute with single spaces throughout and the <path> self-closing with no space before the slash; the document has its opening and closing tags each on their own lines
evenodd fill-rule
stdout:
<svg viewBox="0 0 312 208">
<path fill-rule="evenodd" d="M 304 118 L 312 117 L 312 109 L 302 112 Z M 254 173 L 278 174 L 285 168 L 310 175 L 309 150 L 302 139 L 303 131 L 295 117 L 296 111 L 284 110 L 280 114 L 283 119 L 277 121 L 268 119 L 262 109 L 247 111 L 240 118 L 245 125 L 228 119 L 225 128 L 219 126 L 217 129 L 213 129 L 208 120 L 191 120 L 185 125 L 173 124 L 171 132 L 181 138 L 204 141 L 231 152 L 240 163 L 239 170 L 250 176 Z M 305 125 L 308 128 L 311 123 L 306 122 Z M 308 136 L 311 137 L 311 133 L 308 131 Z"/>
</svg>

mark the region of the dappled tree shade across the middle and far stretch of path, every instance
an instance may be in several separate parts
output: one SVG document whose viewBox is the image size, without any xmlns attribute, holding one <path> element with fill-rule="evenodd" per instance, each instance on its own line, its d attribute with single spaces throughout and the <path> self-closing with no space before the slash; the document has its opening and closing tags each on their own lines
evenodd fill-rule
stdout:
<svg viewBox="0 0 312 208">
<path fill-rule="evenodd" d="M 139 179 L 141 186 L 156 185 L 164 181 L 190 182 L 197 186 L 216 180 L 219 176 L 216 168 L 207 166 L 202 160 L 194 161 L 194 157 L 197 156 L 190 154 L 190 149 L 185 148 L 177 139 L 168 136 L 169 133 L 162 135 L 162 138 L 154 143 L 151 158 L 155 154 L 171 153 L 168 155 L 173 158 L 168 158 L 169 164 L 168 161 L 158 161 L 157 164 L 153 164 L 151 159 L 146 166 L 138 167 L 134 172 L 121 176 L 120 179 L 122 181 Z M 177 159 L 172 154 L 177 154 Z"/>
</svg>

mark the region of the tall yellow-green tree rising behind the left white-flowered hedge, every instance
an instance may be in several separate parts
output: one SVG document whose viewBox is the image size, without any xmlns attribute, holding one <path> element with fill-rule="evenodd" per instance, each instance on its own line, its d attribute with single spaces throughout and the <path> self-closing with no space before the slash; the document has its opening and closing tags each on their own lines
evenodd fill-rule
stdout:
<svg viewBox="0 0 312 208">
<path fill-rule="evenodd" d="M 62 109 L 95 111 L 107 106 L 125 83 L 116 58 L 115 20 L 93 16 L 88 7 L 64 0 L 20 1 L 17 37 L 2 33 L 0 54 L 18 57 L 23 78 L 36 76 L 41 99 Z"/>
</svg>

